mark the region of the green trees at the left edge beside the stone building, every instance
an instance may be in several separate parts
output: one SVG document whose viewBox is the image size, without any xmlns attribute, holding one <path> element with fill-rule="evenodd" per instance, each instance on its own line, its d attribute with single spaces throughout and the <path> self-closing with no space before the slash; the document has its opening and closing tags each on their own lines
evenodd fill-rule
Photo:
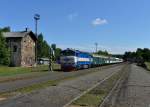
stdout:
<svg viewBox="0 0 150 107">
<path fill-rule="evenodd" d="M 9 65 L 10 52 L 3 37 L 3 32 L 10 32 L 10 27 L 0 28 L 0 65 Z"/>
</svg>

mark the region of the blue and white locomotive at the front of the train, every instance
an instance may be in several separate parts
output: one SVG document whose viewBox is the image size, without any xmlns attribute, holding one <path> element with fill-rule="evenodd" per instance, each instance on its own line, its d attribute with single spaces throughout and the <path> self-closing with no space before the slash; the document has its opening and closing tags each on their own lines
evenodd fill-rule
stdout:
<svg viewBox="0 0 150 107">
<path fill-rule="evenodd" d="M 66 49 L 61 52 L 62 70 L 89 68 L 92 65 L 92 55 L 79 50 Z"/>
</svg>

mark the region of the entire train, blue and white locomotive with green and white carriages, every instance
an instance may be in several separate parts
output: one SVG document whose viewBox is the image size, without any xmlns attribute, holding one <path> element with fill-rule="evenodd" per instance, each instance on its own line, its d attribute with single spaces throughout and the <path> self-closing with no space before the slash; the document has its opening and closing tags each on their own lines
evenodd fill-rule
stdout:
<svg viewBox="0 0 150 107">
<path fill-rule="evenodd" d="M 61 51 L 60 56 L 61 69 L 67 71 L 88 69 L 121 62 L 123 62 L 123 60 L 120 58 L 91 54 L 69 48 Z"/>
</svg>

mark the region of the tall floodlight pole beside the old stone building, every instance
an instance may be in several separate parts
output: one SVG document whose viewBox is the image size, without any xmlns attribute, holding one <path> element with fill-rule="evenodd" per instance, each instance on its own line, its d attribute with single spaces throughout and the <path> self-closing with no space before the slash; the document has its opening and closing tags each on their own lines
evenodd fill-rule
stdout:
<svg viewBox="0 0 150 107">
<path fill-rule="evenodd" d="M 38 20 L 40 20 L 40 15 L 35 14 L 34 20 L 35 20 L 35 35 L 38 38 L 38 33 L 37 33 L 38 28 L 37 27 L 38 27 Z M 35 63 L 37 65 L 37 41 L 35 42 Z"/>
</svg>

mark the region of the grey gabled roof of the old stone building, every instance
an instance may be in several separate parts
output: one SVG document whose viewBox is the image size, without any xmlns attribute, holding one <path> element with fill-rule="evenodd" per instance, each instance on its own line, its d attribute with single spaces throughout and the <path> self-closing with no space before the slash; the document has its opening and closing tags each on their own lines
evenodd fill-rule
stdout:
<svg viewBox="0 0 150 107">
<path fill-rule="evenodd" d="M 5 38 L 23 38 L 26 35 L 30 35 L 34 40 L 37 40 L 36 35 L 32 31 L 5 32 L 5 33 L 3 33 L 3 36 Z"/>
</svg>

